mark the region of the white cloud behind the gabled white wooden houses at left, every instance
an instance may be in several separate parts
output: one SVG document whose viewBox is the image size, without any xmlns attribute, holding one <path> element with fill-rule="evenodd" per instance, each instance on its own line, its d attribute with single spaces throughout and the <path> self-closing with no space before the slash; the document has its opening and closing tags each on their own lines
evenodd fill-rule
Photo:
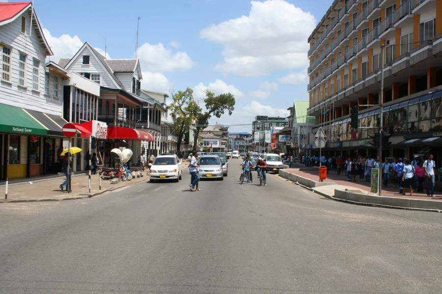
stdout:
<svg viewBox="0 0 442 294">
<path fill-rule="evenodd" d="M 51 47 L 53 56 L 50 56 L 50 59 L 57 63 L 60 58 L 72 58 L 75 53 L 83 46 L 84 42 L 80 40 L 78 36 L 70 36 L 68 34 L 62 34 L 59 37 L 54 37 L 51 35 L 51 32 L 43 28 L 43 34 L 48 41 L 49 46 Z M 91 44 L 92 45 L 92 44 Z M 107 58 L 111 58 L 109 55 L 105 54 L 105 51 L 100 48 L 95 48 L 101 55 L 106 56 Z"/>
</svg>

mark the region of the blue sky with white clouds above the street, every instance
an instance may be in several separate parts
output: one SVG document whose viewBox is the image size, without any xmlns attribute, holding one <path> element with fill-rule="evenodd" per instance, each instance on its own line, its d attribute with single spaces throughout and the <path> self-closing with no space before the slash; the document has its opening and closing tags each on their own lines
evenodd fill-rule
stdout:
<svg viewBox="0 0 442 294">
<path fill-rule="evenodd" d="M 308 100 L 307 39 L 331 2 L 33 1 L 54 52 L 46 61 L 71 58 L 84 42 L 108 58 L 138 58 L 142 89 L 189 87 L 201 107 L 207 89 L 231 93 L 233 114 L 210 123 L 249 133 L 255 116 L 287 117 L 294 100 Z"/>
</svg>

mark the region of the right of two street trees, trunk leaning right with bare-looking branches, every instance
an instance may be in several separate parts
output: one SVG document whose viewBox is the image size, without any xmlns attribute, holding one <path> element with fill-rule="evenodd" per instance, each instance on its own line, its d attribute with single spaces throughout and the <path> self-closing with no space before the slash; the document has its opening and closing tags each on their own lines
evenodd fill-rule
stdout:
<svg viewBox="0 0 442 294">
<path fill-rule="evenodd" d="M 204 103 L 207 111 L 204 113 L 200 111 L 195 116 L 196 129 L 193 134 L 193 150 L 196 149 L 196 139 L 199 136 L 199 132 L 209 125 L 209 120 L 212 115 L 217 118 L 221 118 L 221 115 L 223 115 L 226 110 L 228 111 L 229 115 L 232 115 L 233 110 L 235 109 L 235 97 L 230 93 L 215 96 L 213 92 L 206 90 L 206 98 L 204 98 Z"/>
</svg>

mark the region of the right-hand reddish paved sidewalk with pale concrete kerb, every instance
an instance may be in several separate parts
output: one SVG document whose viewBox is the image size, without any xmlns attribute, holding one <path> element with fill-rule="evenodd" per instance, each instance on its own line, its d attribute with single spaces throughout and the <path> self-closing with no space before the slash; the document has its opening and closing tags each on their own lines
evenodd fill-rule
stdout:
<svg viewBox="0 0 442 294">
<path fill-rule="evenodd" d="M 284 169 L 283 171 L 315 182 L 319 182 L 318 167 L 307 168 L 301 164 L 294 164 L 292 165 L 292 168 Z M 321 184 L 317 185 L 324 185 L 324 186 L 307 187 L 307 188 L 311 188 L 312 191 L 315 191 L 318 194 L 327 196 L 335 200 L 342 200 L 350 203 L 359 202 L 359 201 L 353 201 L 341 198 L 342 193 L 339 193 L 339 196 L 335 195 L 335 190 L 340 190 L 340 191 L 346 191 L 347 194 L 354 193 L 361 195 L 359 197 L 360 199 L 363 199 L 363 201 L 367 201 L 368 199 L 369 201 L 369 202 L 360 202 L 355 204 L 376 205 L 376 206 L 404 208 L 404 209 L 422 209 L 421 207 L 427 207 L 425 210 L 434 210 L 434 211 L 441 211 L 442 208 L 442 195 L 438 194 L 438 192 L 436 192 L 436 197 L 428 197 L 426 196 L 426 193 L 416 193 L 416 192 L 413 192 L 413 196 L 409 196 L 410 191 L 409 189 L 407 189 L 407 194 L 404 196 L 399 194 L 399 188 L 394 188 L 391 182 L 389 183 L 389 186 L 387 188 L 382 187 L 381 196 L 375 196 L 375 194 L 370 193 L 369 182 L 366 182 L 365 179 L 361 179 L 360 182 L 358 182 L 358 180 L 356 182 L 348 181 L 347 176 L 345 175 L 345 171 L 342 171 L 340 175 L 337 175 L 336 170 L 331 170 L 328 172 L 327 179 L 325 179 Z M 369 196 L 369 197 L 363 197 L 363 196 Z M 421 203 L 423 203 L 424 205 L 421 206 Z M 410 207 L 413 205 L 415 207 Z"/>
</svg>

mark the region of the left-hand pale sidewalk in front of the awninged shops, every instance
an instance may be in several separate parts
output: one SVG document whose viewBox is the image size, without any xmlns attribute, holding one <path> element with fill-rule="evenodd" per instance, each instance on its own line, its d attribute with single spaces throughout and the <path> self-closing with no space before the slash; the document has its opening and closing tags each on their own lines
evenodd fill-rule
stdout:
<svg viewBox="0 0 442 294">
<path fill-rule="evenodd" d="M 137 174 L 138 172 L 136 172 Z M 59 188 L 60 184 L 66 178 L 62 175 L 52 175 L 50 177 L 39 177 L 34 179 L 27 179 L 26 181 L 15 180 L 13 183 L 8 184 L 8 195 L 5 199 L 6 185 L 1 182 L 0 185 L 0 203 L 4 202 L 34 202 L 34 201 L 59 201 L 67 199 L 79 199 L 97 196 L 107 191 L 112 191 L 124 186 L 134 185 L 135 183 L 148 181 L 149 176 L 145 171 L 143 177 L 135 177 L 128 181 L 119 181 L 116 184 L 112 184 L 111 180 L 101 179 L 101 190 L 99 175 L 91 175 L 91 190 L 89 193 L 89 177 L 88 173 L 79 173 L 72 176 L 71 185 L 72 192 L 63 192 Z"/>
</svg>

